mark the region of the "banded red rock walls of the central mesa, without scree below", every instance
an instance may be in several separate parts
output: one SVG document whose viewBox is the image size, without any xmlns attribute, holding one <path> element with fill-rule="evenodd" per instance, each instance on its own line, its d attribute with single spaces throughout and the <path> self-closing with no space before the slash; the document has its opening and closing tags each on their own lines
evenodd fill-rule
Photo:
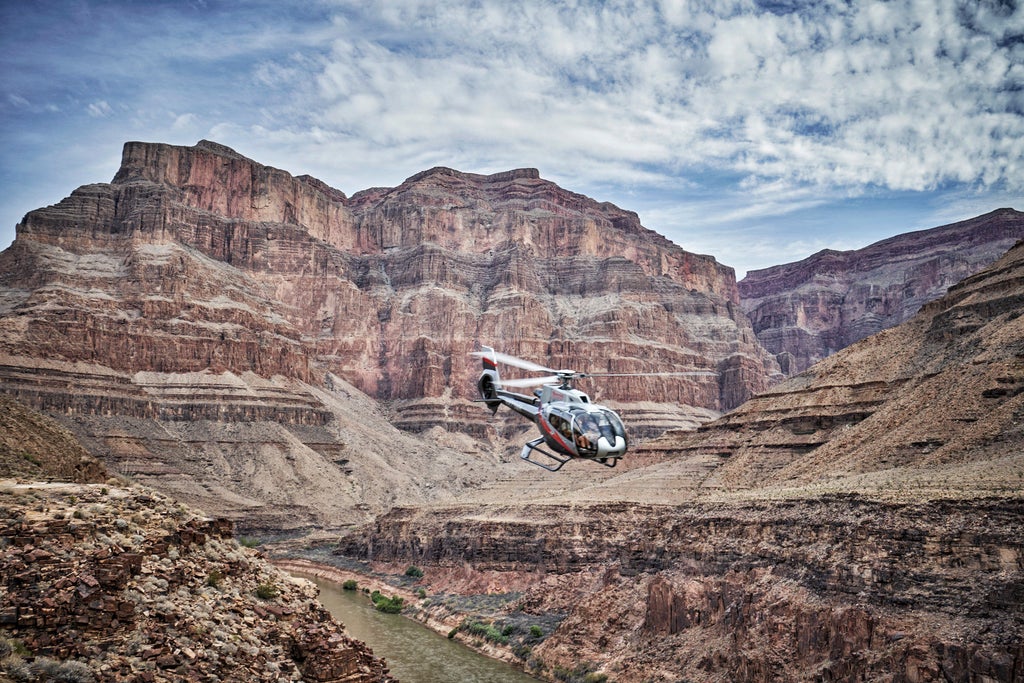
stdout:
<svg viewBox="0 0 1024 683">
<path fill-rule="evenodd" d="M 437 168 L 348 201 L 215 143 L 129 142 L 113 183 L 26 216 L 3 265 L 38 313 L 8 351 L 46 336 L 47 357 L 115 370 L 327 370 L 379 398 L 459 398 L 484 341 L 592 371 L 721 369 L 605 387 L 719 410 L 775 372 L 731 269 L 532 169 Z"/>
</svg>

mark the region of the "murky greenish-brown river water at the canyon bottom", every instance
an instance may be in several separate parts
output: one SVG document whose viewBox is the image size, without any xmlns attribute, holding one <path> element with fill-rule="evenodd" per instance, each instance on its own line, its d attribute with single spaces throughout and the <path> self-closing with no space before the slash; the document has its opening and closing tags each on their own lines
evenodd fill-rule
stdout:
<svg viewBox="0 0 1024 683">
<path fill-rule="evenodd" d="M 387 659 L 391 675 L 401 683 L 537 683 L 511 665 L 478 654 L 411 618 L 374 609 L 359 591 L 303 577 L 319 587 L 321 602 L 349 635 Z"/>
</svg>

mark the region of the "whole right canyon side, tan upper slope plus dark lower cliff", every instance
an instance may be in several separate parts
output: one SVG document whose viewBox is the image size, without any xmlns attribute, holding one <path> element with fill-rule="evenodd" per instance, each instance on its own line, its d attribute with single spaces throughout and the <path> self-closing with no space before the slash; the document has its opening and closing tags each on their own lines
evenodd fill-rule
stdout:
<svg viewBox="0 0 1024 683">
<path fill-rule="evenodd" d="M 1024 243 L 656 464 L 395 509 L 338 554 L 509 594 L 517 649 L 644 681 L 1024 680 Z M 525 614 L 525 616 L 524 616 Z"/>
</svg>

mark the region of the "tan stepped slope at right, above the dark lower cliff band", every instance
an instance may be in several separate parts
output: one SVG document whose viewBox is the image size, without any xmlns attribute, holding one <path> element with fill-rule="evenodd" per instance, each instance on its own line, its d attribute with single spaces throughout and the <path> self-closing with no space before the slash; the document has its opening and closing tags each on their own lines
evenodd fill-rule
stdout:
<svg viewBox="0 0 1024 683">
<path fill-rule="evenodd" d="M 757 396 L 696 438 L 706 486 L 814 485 L 893 496 L 1024 489 L 1024 243 L 926 304 Z M 685 459 L 685 458 L 684 458 Z"/>
</svg>

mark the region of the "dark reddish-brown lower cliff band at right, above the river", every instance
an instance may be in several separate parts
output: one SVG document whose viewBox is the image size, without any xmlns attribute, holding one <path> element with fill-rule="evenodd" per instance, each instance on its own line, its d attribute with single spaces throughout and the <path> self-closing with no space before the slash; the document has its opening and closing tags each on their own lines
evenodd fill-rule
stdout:
<svg viewBox="0 0 1024 683">
<path fill-rule="evenodd" d="M 564 618 L 521 664 L 557 679 L 1016 681 L 1024 502 L 490 505 L 395 510 L 349 557 L 430 593 L 518 593 Z M 526 620 L 528 622 L 528 620 Z"/>
</svg>

